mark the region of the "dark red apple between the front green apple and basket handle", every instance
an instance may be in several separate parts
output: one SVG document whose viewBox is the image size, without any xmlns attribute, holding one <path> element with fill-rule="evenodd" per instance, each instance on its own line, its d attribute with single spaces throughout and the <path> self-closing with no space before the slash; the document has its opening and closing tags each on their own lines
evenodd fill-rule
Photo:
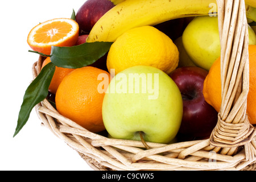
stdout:
<svg viewBox="0 0 256 182">
<path fill-rule="evenodd" d="M 187 137 L 209 137 L 216 126 L 218 113 L 203 95 L 203 84 L 208 71 L 199 67 L 177 68 L 170 77 L 183 98 L 183 118 L 179 134 Z"/>
</svg>

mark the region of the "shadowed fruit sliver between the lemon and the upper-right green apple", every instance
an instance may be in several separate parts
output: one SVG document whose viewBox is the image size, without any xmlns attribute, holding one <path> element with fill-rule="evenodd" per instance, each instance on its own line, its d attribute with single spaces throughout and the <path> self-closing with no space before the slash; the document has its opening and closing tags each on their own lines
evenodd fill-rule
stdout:
<svg viewBox="0 0 256 182">
<path fill-rule="evenodd" d="M 174 44 L 176 45 L 178 51 L 179 51 L 179 65 L 178 67 L 193 67 L 196 66 L 195 63 L 190 59 L 188 56 L 182 42 L 182 36 L 177 38 L 174 41 Z"/>
</svg>

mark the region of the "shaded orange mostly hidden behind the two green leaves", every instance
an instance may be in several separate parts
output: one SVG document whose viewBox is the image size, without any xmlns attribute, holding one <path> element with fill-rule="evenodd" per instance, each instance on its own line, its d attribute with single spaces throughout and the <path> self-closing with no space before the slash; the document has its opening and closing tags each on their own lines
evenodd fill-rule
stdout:
<svg viewBox="0 0 256 182">
<path fill-rule="evenodd" d="M 51 62 L 50 57 L 47 57 L 46 60 L 44 60 L 42 64 L 42 68 Z M 51 84 L 49 85 L 49 92 L 56 94 L 57 88 L 60 85 L 60 82 L 63 80 L 63 78 L 68 75 L 68 73 L 74 71 L 75 69 L 69 69 L 69 68 L 61 68 L 61 67 L 55 67 L 55 72 L 52 77 Z"/>
</svg>

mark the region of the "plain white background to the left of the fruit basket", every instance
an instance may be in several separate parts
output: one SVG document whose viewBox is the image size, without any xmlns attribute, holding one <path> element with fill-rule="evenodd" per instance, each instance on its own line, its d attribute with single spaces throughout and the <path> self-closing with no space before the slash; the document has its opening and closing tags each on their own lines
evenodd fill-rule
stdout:
<svg viewBox="0 0 256 182">
<path fill-rule="evenodd" d="M 1 125 L 0 170 L 92 170 L 63 140 L 40 125 L 32 110 L 30 119 L 16 137 L 23 95 L 32 79 L 32 64 L 38 55 L 30 53 L 27 35 L 39 22 L 70 18 L 85 0 L 0 1 L 1 33 Z"/>
</svg>

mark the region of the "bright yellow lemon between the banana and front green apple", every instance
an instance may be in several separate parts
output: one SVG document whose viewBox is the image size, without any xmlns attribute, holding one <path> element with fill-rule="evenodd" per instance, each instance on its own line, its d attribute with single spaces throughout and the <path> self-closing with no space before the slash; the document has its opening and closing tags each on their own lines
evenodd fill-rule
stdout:
<svg viewBox="0 0 256 182">
<path fill-rule="evenodd" d="M 132 28 L 112 44 L 107 67 L 119 73 L 135 65 L 149 65 L 167 74 L 179 63 L 179 51 L 172 40 L 152 26 Z"/>
</svg>

